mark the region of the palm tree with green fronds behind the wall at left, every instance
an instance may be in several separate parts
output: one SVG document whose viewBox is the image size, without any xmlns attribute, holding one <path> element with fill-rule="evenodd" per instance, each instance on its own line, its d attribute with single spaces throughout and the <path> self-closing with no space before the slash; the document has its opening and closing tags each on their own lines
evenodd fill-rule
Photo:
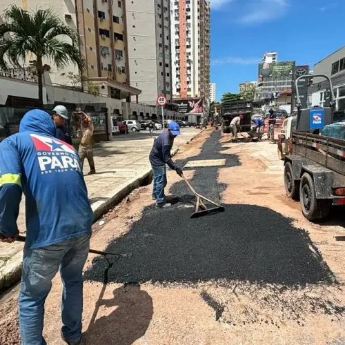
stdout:
<svg viewBox="0 0 345 345">
<path fill-rule="evenodd" d="M 12 5 L 3 14 L 3 21 L 0 26 L 0 68 L 7 69 L 8 63 L 20 68 L 29 54 L 34 55 L 40 106 L 43 105 L 42 76 L 50 70 L 49 65 L 43 64 L 44 60 L 54 63 L 58 69 L 72 62 L 80 73 L 83 72 L 79 36 L 51 8 L 28 12 Z"/>
</svg>

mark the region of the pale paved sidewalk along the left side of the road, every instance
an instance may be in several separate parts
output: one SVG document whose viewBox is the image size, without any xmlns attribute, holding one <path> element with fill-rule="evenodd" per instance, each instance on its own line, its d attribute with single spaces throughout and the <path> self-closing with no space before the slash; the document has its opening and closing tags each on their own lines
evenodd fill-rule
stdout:
<svg viewBox="0 0 345 345">
<path fill-rule="evenodd" d="M 195 137 L 200 130 L 183 128 L 175 139 L 173 152 Z M 155 137 L 159 132 L 154 133 Z M 117 135 L 113 141 L 97 144 L 95 149 L 96 175 L 86 175 L 88 195 L 95 219 L 106 213 L 113 205 L 139 187 L 141 181 L 150 175 L 148 155 L 153 139 L 148 132 Z M 84 164 L 84 174 L 89 171 L 88 161 Z M 24 197 L 23 197 L 24 199 Z M 18 228 L 22 235 L 26 233 L 25 201 L 21 201 Z M 21 276 L 23 244 L 0 242 L 0 290 L 17 282 Z"/>
</svg>

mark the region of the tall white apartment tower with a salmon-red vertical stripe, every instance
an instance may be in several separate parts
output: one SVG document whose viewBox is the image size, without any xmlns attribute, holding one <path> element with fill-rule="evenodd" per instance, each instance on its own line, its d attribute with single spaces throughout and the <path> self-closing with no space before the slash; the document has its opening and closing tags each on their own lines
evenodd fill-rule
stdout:
<svg viewBox="0 0 345 345">
<path fill-rule="evenodd" d="M 172 97 L 209 97 L 210 5 L 206 0 L 172 0 Z"/>
</svg>

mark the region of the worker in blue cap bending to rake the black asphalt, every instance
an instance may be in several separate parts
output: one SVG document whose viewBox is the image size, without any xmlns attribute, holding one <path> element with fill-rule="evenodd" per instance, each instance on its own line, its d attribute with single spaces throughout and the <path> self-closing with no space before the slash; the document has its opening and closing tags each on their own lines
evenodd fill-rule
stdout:
<svg viewBox="0 0 345 345">
<path fill-rule="evenodd" d="M 164 188 L 166 187 L 166 164 L 169 168 L 175 170 L 179 176 L 182 176 L 181 168 L 175 166 L 171 159 L 171 148 L 174 139 L 180 135 L 179 125 L 171 121 L 168 130 L 164 130 L 155 140 L 150 152 L 150 164 L 153 172 L 153 190 L 152 200 L 156 201 L 157 207 L 168 207 L 165 201 Z"/>
</svg>

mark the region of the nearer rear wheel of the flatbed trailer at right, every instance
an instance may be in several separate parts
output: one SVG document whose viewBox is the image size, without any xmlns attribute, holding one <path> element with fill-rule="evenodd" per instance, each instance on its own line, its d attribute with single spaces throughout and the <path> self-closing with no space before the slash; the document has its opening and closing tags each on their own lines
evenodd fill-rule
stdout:
<svg viewBox="0 0 345 345">
<path fill-rule="evenodd" d="M 299 188 L 302 213 L 308 220 L 324 219 L 328 216 L 332 200 L 317 199 L 315 195 L 315 184 L 313 177 L 304 172 Z"/>
</svg>

